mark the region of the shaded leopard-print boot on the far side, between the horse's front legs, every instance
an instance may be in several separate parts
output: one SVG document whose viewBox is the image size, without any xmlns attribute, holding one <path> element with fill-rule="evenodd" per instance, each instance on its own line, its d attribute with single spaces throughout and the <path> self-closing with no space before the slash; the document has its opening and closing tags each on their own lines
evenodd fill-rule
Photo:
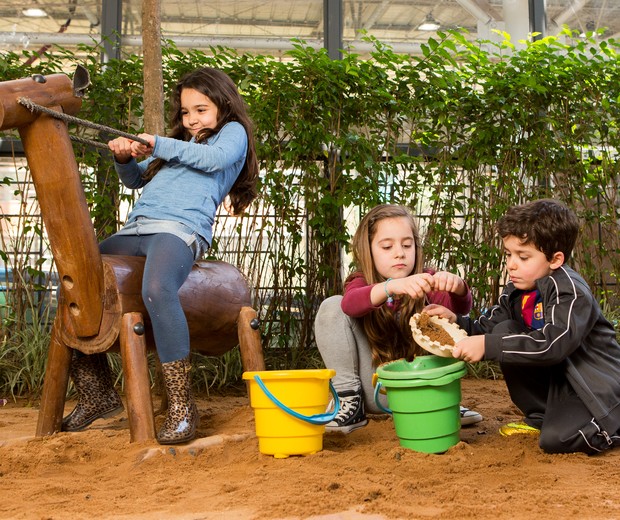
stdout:
<svg viewBox="0 0 620 520">
<path fill-rule="evenodd" d="M 105 353 L 86 355 L 74 350 L 70 375 L 78 402 L 62 420 L 62 431 L 77 432 L 97 419 L 113 417 L 123 411 L 123 401 L 114 390 Z"/>
</svg>

